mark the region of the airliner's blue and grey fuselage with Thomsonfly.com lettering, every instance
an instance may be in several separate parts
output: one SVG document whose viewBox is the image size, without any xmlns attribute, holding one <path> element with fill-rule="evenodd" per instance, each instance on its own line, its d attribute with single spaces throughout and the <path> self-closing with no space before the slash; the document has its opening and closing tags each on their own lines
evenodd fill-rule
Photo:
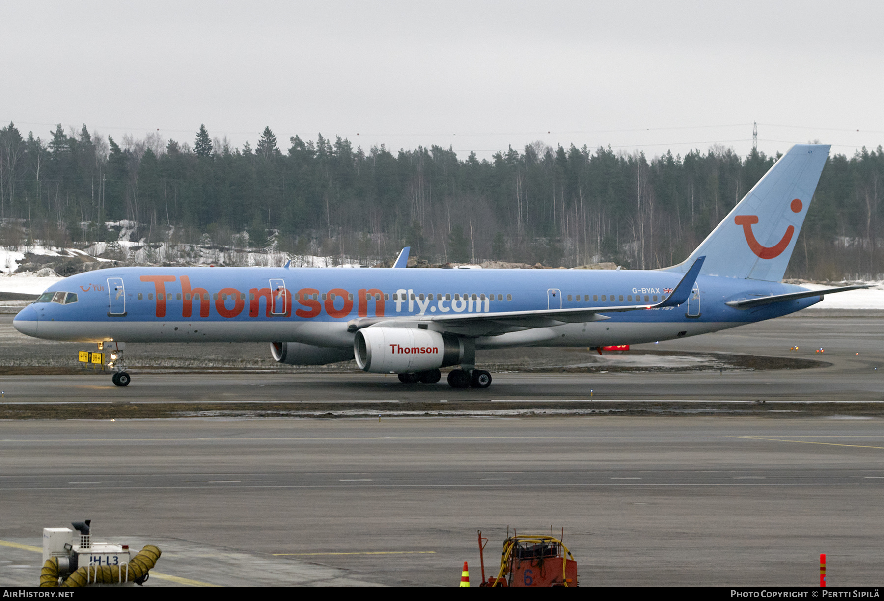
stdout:
<svg viewBox="0 0 884 601">
<path fill-rule="evenodd" d="M 66 304 L 34 303 L 13 323 L 29 336 L 81 342 L 294 341 L 352 347 L 354 333 L 347 324 L 359 317 L 492 316 L 504 311 L 652 304 L 681 278 L 681 273 L 662 270 L 127 267 L 65 278 L 47 292 L 75 293 L 76 301 L 68 296 Z M 599 311 L 600 321 L 472 336 L 478 348 L 608 346 L 675 339 L 787 315 L 821 300 L 812 296 L 745 310 L 725 304 L 804 290 L 777 282 L 700 276 L 689 301 L 678 307 Z"/>
</svg>

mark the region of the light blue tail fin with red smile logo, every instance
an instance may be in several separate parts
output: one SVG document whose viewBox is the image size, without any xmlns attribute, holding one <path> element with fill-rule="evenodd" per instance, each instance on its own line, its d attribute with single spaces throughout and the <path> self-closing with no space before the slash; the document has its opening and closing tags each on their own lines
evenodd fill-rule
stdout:
<svg viewBox="0 0 884 601">
<path fill-rule="evenodd" d="M 782 279 L 831 146 L 796 144 L 758 180 L 703 243 L 670 271 L 705 255 L 702 275 Z"/>
</svg>

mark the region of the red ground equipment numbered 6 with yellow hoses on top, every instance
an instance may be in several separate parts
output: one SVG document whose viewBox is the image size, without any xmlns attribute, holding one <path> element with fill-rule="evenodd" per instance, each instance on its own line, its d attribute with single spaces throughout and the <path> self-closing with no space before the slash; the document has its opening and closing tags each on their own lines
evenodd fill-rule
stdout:
<svg viewBox="0 0 884 601">
<path fill-rule="evenodd" d="M 550 529 L 552 532 L 552 529 Z M 565 530 L 562 529 L 562 537 Z M 479 562 L 482 567 L 480 587 L 575 587 L 577 562 L 568 547 L 545 534 L 522 534 L 509 536 L 500 552 L 500 569 L 497 576 L 485 579 L 484 546 L 488 539 L 478 531 Z M 483 543 L 484 541 L 484 543 Z"/>
</svg>

